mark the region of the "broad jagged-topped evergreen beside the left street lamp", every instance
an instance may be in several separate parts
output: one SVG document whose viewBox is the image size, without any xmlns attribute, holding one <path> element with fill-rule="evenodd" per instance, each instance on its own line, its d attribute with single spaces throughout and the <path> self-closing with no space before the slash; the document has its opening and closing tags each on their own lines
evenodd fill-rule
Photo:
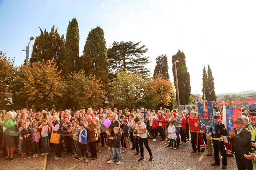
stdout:
<svg viewBox="0 0 256 170">
<path fill-rule="evenodd" d="M 64 35 L 60 37 L 58 28 L 55 29 L 54 25 L 50 33 L 46 29 L 44 31 L 40 27 L 39 29 L 41 34 L 36 37 L 33 44 L 30 63 L 42 62 L 44 59 L 45 61 L 53 60 L 54 64 L 59 65 L 64 57 Z"/>
</svg>

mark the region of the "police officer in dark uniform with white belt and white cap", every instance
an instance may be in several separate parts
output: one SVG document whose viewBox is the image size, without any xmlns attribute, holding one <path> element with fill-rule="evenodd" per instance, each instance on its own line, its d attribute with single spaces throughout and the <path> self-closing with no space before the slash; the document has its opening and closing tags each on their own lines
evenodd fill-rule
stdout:
<svg viewBox="0 0 256 170">
<path fill-rule="evenodd" d="M 214 123 L 215 123 L 215 134 L 212 133 L 212 144 L 214 150 L 214 165 L 220 165 L 219 151 L 222 156 L 222 167 L 221 169 L 227 168 L 227 156 L 225 151 L 224 139 L 223 136 L 227 136 L 228 132 L 223 123 L 219 122 L 219 114 L 214 114 Z"/>
</svg>

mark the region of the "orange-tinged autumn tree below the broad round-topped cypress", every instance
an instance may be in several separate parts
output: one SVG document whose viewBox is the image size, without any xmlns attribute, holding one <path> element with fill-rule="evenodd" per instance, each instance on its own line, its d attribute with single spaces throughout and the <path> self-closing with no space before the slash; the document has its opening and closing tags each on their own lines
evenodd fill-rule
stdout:
<svg viewBox="0 0 256 170">
<path fill-rule="evenodd" d="M 70 108 L 102 107 L 106 91 L 102 89 L 102 83 L 95 76 L 86 77 L 84 71 L 68 73 L 68 88 L 66 94 L 73 101 Z M 72 103 L 71 103 L 72 104 Z"/>
</svg>

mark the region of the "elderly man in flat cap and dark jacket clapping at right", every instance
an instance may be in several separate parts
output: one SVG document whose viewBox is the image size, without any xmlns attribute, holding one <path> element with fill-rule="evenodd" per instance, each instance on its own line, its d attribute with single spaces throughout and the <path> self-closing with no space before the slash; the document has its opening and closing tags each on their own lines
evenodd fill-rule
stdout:
<svg viewBox="0 0 256 170">
<path fill-rule="evenodd" d="M 235 121 L 236 128 L 229 131 L 228 141 L 232 141 L 232 148 L 235 152 L 236 165 L 238 169 L 252 170 L 252 160 L 246 159 L 251 149 L 251 132 L 244 127 L 244 120 L 238 117 Z"/>
</svg>

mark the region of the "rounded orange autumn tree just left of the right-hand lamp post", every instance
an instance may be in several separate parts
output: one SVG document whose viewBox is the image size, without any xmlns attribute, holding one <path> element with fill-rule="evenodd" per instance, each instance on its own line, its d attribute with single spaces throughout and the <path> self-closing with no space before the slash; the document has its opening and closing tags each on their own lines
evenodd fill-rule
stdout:
<svg viewBox="0 0 256 170">
<path fill-rule="evenodd" d="M 175 94 L 175 87 L 170 80 L 161 78 L 159 75 L 147 82 L 148 95 L 157 105 L 169 106 Z"/>
</svg>

